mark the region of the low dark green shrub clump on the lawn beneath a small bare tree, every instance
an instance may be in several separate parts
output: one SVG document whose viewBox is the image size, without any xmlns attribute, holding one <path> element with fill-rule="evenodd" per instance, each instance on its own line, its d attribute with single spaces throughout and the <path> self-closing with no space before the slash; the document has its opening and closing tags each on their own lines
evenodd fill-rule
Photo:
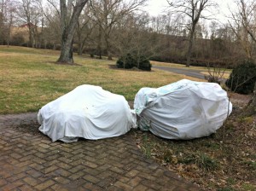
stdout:
<svg viewBox="0 0 256 191">
<path fill-rule="evenodd" d="M 141 70 L 150 71 L 152 65 L 150 61 L 144 56 L 141 56 L 139 59 L 139 63 L 137 63 L 136 56 L 132 56 L 131 54 L 127 54 L 125 56 L 121 56 L 119 60 L 116 62 L 116 66 L 119 68 L 131 69 L 133 67 L 137 67 Z"/>
</svg>

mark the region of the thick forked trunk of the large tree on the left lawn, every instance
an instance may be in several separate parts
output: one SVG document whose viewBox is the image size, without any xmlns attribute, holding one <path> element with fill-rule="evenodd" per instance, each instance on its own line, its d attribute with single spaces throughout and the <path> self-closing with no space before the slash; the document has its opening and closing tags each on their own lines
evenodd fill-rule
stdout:
<svg viewBox="0 0 256 191">
<path fill-rule="evenodd" d="M 79 16 L 88 0 L 60 0 L 61 6 L 61 55 L 58 62 L 73 64 L 73 38 Z"/>
</svg>

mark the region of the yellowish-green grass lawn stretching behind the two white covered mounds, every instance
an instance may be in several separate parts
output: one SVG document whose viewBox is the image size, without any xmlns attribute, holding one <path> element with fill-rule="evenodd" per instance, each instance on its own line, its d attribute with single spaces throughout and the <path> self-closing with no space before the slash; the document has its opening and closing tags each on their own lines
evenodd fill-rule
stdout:
<svg viewBox="0 0 256 191">
<path fill-rule="evenodd" d="M 74 56 L 76 66 L 57 65 L 59 54 L 49 49 L 0 46 L 0 113 L 38 111 L 80 84 L 99 85 L 132 101 L 142 87 L 159 87 L 189 78 L 157 69 L 111 69 L 109 65 L 115 61 L 85 56 Z"/>
</svg>

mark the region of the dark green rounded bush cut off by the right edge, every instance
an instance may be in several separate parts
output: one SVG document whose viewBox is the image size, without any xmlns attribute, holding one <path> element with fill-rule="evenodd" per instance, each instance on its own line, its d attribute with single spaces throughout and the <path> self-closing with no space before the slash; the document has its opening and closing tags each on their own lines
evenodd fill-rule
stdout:
<svg viewBox="0 0 256 191">
<path fill-rule="evenodd" d="M 256 65 L 253 61 L 244 61 L 233 69 L 226 85 L 239 94 L 253 93 L 256 82 Z"/>
</svg>

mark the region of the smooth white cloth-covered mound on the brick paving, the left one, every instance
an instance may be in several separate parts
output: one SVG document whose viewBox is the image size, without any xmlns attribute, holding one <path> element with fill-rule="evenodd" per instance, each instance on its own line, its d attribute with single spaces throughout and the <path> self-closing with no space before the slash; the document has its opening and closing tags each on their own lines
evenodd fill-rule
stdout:
<svg viewBox="0 0 256 191">
<path fill-rule="evenodd" d="M 49 102 L 38 112 L 39 130 L 53 142 L 120 136 L 135 127 L 136 120 L 124 96 L 88 84 Z"/>
</svg>

